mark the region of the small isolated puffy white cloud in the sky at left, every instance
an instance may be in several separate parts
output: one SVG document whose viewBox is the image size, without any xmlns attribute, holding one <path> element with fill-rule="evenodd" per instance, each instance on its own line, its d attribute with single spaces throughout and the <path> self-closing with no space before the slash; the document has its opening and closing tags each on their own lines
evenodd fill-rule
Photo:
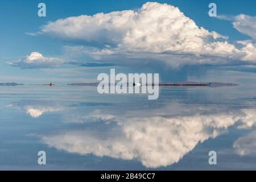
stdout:
<svg viewBox="0 0 256 182">
<path fill-rule="evenodd" d="M 39 52 L 31 52 L 30 55 L 26 56 L 24 59 L 9 61 L 7 64 L 14 67 L 20 67 L 22 69 L 32 69 L 32 68 L 54 68 L 63 63 L 67 63 L 67 60 L 60 59 L 57 57 L 44 57 Z"/>
</svg>

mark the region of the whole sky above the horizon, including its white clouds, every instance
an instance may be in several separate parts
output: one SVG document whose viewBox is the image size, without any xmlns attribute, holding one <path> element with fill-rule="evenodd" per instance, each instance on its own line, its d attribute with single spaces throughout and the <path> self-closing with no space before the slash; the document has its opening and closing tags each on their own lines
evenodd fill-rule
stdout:
<svg viewBox="0 0 256 182">
<path fill-rule="evenodd" d="M 212 2 L 217 17 L 208 15 Z M 159 73 L 161 81 L 256 84 L 255 5 L 2 0 L 0 82 L 95 82 L 115 68 Z"/>
</svg>

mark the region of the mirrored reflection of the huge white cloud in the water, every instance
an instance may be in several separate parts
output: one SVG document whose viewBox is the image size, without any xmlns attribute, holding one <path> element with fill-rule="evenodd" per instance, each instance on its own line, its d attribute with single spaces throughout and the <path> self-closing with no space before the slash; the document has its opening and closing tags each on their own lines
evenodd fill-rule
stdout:
<svg viewBox="0 0 256 182">
<path fill-rule="evenodd" d="M 170 113 L 170 108 L 166 108 Z M 42 137 L 44 143 L 58 150 L 81 155 L 94 154 L 117 159 L 138 159 L 143 166 L 156 168 L 179 162 L 198 143 L 216 138 L 233 125 L 250 126 L 255 109 L 195 115 L 162 115 L 130 111 L 112 115 L 96 110 L 92 115 L 101 119 L 115 119 L 118 125 L 105 127 L 106 131 L 61 131 Z M 143 114 L 142 114 L 143 113 Z M 203 114 L 204 113 L 204 114 Z M 123 119 L 125 118 L 125 120 Z M 249 123 L 249 124 L 248 124 Z M 254 120 L 255 123 L 255 120 Z"/>
</svg>

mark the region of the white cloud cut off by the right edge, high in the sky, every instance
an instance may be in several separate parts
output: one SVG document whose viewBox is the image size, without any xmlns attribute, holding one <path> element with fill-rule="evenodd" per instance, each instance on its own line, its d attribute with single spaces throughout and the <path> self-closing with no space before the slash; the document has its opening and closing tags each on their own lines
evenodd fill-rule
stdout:
<svg viewBox="0 0 256 182">
<path fill-rule="evenodd" d="M 256 40 L 256 16 L 240 14 L 234 16 L 234 28 Z"/>
</svg>

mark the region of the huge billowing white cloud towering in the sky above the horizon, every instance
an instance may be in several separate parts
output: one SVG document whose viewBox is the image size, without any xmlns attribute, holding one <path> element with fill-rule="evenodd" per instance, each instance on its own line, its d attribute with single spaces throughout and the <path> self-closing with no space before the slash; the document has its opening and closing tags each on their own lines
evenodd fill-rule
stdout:
<svg viewBox="0 0 256 182">
<path fill-rule="evenodd" d="M 157 2 L 147 2 L 137 11 L 58 19 L 43 26 L 40 34 L 110 44 L 112 48 L 89 52 L 90 55 L 97 55 L 99 60 L 105 59 L 106 55 L 123 59 L 132 52 L 134 59 L 155 57 L 171 65 L 227 64 L 232 60 L 254 64 L 256 61 L 255 44 L 241 44 L 242 48 L 238 48 L 225 40 L 226 36 L 198 27 L 177 7 Z M 190 54 L 197 58 L 184 61 L 184 54 L 188 58 Z M 173 56 L 178 60 L 172 61 Z"/>
</svg>

